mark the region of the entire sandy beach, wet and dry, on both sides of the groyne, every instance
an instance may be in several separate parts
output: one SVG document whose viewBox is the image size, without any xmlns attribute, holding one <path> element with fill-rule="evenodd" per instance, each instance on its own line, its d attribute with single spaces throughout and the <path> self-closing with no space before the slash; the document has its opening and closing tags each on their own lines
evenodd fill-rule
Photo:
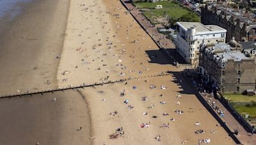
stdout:
<svg viewBox="0 0 256 145">
<path fill-rule="evenodd" d="M 30 4 L 1 35 L 0 94 L 147 78 L 0 99 L 0 144 L 234 144 L 120 1 Z M 37 8 L 42 16 L 31 18 Z M 109 139 L 120 127 L 124 135 Z"/>
</svg>

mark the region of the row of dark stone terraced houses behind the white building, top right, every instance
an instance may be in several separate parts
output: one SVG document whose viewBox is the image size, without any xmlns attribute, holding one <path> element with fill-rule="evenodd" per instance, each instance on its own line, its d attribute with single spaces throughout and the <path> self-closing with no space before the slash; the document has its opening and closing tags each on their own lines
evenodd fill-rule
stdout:
<svg viewBox="0 0 256 145">
<path fill-rule="evenodd" d="M 246 10 L 232 9 L 230 5 L 206 4 L 201 7 L 201 22 L 218 25 L 227 30 L 226 41 L 254 41 L 256 39 L 256 15 Z"/>
</svg>

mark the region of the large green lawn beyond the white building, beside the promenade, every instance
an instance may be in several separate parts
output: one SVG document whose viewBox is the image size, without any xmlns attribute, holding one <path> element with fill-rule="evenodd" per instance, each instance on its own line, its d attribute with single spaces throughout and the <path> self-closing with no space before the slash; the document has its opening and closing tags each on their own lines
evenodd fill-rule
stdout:
<svg viewBox="0 0 256 145">
<path fill-rule="evenodd" d="M 150 19 L 150 21 L 154 22 L 154 18 L 156 17 L 164 17 L 164 12 L 168 15 L 172 20 L 179 21 L 181 17 L 191 16 L 191 20 L 193 22 L 200 22 L 200 17 L 186 8 L 180 7 L 179 4 L 175 4 L 172 1 L 159 1 L 157 3 L 134 3 L 136 8 L 148 8 L 153 9 L 156 5 L 162 5 L 163 9 L 154 9 L 150 11 L 143 11 L 144 15 Z"/>
</svg>

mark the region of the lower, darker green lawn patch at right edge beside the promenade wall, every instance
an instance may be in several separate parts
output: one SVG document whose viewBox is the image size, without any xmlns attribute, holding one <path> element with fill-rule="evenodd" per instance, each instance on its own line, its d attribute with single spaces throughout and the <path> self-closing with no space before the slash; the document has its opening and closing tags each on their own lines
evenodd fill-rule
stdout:
<svg viewBox="0 0 256 145">
<path fill-rule="evenodd" d="M 243 116 L 245 114 L 249 114 L 250 118 L 256 118 L 256 106 L 241 106 L 241 105 L 236 105 L 233 104 L 234 108 L 236 109 L 236 111 L 240 114 L 242 114 Z"/>
</svg>

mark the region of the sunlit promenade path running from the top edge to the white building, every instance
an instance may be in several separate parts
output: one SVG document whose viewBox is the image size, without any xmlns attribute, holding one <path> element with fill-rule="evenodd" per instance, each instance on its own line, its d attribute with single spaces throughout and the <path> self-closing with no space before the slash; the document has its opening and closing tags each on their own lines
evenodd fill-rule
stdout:
<svg viewBox="0 0 256 145">
<path fill-rule="evenodd" d="M 127 0 L 122 0 L 126 2 Z M 124 3 L 127 8 L 131 11 L 131 14 L 136 18 L 136 20 L 142 25 L 143 29 L 150 34 L 150 36 L 158 43 L 161 48 L 175 48 L 172 40 L 167 39 L 164 34 L 157 31 L 157 27 L 152 27 L 152 24 L 147 20 L 147 18 L 132 5 L 132 3 Z"/>
</svg>

